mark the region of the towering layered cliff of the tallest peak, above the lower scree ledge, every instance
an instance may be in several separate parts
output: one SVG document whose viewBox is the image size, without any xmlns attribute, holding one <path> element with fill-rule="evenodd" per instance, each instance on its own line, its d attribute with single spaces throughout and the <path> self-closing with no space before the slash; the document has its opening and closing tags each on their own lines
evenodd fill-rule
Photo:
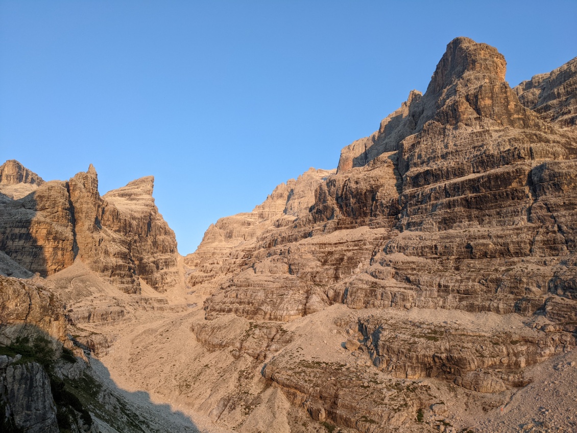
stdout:
<svg viewBox="0 0 577 433">
<path fill-rule="evenodd" d="M 242 248 L 219 239 L 210 263 L 228 267 L 212 268 L 207 314 L 287 320 L 335 302 L 529 314 L 571 298 L 575 134 L 524 107 L 504 75 L 495 48 L 449 43 L 425 94 L 343 150 L 309 212 Z M 245 233 L 250 218 L 217 226 Z M 214 232 L 187 259 L 196 271 Z"/>
</svg>

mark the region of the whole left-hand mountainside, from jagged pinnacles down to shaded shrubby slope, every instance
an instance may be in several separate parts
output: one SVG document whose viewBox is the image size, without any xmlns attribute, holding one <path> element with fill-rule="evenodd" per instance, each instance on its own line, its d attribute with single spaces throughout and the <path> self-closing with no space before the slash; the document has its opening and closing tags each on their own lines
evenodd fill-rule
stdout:
<svg viewBox="0 0 577 433">
<path fill-rule="evenodd" d="M 159 292 L 179 283 L 179 256 L 153 178 L 100 197 L 92 165 L 69 181 L 14 160 L 0 173 L 0 431 L 196 432 L 108 383 L 90 350 L 114 337 L 77 327 L 170 309 Z"/>
</svg>

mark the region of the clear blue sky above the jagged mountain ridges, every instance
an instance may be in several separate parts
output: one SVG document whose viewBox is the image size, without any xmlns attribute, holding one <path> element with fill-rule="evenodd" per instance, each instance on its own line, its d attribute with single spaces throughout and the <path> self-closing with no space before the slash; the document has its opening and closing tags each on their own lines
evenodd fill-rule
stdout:
<svg viewBox="0 0 577 433">
<path fill-rule="evenodd" d="M 425 91 L 456 36 L 516 85 L 577 55 L 577 1 L 0 0 L 0 163 L 44 180 L 93 163 L 100 193 L 155 176 L 193 252 Z"/>
</svg>

